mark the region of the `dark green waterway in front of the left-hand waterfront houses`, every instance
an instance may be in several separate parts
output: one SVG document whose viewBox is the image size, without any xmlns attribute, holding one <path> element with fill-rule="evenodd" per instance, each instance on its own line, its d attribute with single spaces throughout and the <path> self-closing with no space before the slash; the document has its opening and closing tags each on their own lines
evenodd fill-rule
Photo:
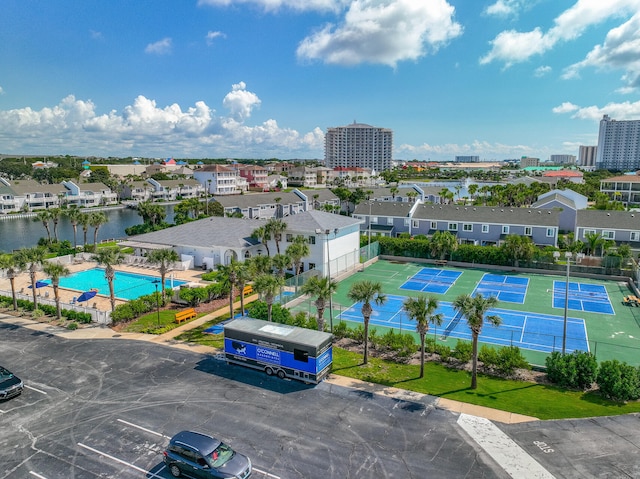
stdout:
<svg viewBox="0 0 640 479">
<path fill-rule="evenodd" d="M 173 205 L 163 205 L 167 212 L 167 223 L 173 223 Z M 138 212 L 131 208 L 113 209 L 104 212 L 109 221 L 98 229 L 98 242 L 108 239 L 126 238 L 124 230 L 130 226 L 142 224 Z M 49 222 L 53 238 L 53 223 Z M 87 231 L 87 242 L 93 243 L 94 228 Z M 77 242 L 82 244 L 84 232 L 78 226 Z M 38 244 L 40 238 L 46 238 L 47 231 L 41 221 L 33 218 L 15 218 L 0 220 L 0 251 L 10 252 L 19 248 L 30 248 Z M 67 218 L 58 223 L 58 239 L 69 240 L 73 244 L 73 227 Z"/>
</svg>

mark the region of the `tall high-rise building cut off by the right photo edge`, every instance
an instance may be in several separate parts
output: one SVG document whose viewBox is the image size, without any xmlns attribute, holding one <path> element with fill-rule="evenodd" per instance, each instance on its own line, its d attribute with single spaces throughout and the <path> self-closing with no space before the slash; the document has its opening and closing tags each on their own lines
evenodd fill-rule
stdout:
<svg viewBox="0 0 640 479">
<path fill-rule="evenodd" d="M 609 118 L 609 115 L 602 117 L 596 169 L 640 169 L 640 120 L 617 121 Z"/>
</svg>

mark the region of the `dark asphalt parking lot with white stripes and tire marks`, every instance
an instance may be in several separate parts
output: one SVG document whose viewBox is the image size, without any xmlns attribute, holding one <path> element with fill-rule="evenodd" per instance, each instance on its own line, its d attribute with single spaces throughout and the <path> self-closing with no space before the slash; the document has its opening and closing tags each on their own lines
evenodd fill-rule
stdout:
<svg viewBox="0 0 640 479">
<path fill-rule="evenodd" d="M 141 341 L 68 340 L 0 323 L 0 478 L 171 477 L 168 439 L 212 434 L 256 478 L 507 477 L 432 404 L 309 387 Z"/>
</svg>

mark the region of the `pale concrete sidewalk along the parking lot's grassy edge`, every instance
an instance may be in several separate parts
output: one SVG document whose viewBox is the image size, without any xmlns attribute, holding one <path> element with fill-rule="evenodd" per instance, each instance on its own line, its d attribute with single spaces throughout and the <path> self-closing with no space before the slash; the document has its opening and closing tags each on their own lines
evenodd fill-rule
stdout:
<svg viewBox="0 0 640 479">
<path fill-rule="evenodd" d="M 248 299 L 248 298 L 247 298 Z M 134 341 L 147 341 L 156 344 L 165 344 L 174 348 L 179 348 L 187 351 L 193 351 L 200 354 L 214 355 L 220 351 L 209 346 L 203 346 L 201 344 L 185 343 L 183 341 L 177 341 L 175 338 L 185 331 L 189 331 L 195 327 L 201 326 L 204 323 L 211 321 L 217 317 L 223 316 L 227 313 L 227 308 L 221 308 L 212 313 L 206 314 L 198 319 L 194 319 L 186 324 L 178 326 L 171 331 L 161 334 L 143 334 L 143 333 L 124 333 L 116 332 L 106 326 L 95 326 L 89 328 L 76 329 L 75 331 L 69 331 L 59 326 L 52 326 L 46 323 L 40 323 L 27 318 L 21 318 L 12 316 L 9 314 L 0 313 L 0 322 L 14 324 L 22 326 L 24 328 L 33 329 L 36 331 L 42 331 L 49 334 L 54 334 L 66 339 L 114 339 L 122 338 Z M 398 389 L 393 387 L 382 386 L 380 384 L 368 383 L 360 381 L 359 379 L 353 379 L 345 376 L 338 376 L 336 374 L 330 374 L 325 380 L 330 384 L 337 386 L 343 386 L 347 388 L 358 389 L 361 391 L 370 392 L 373 394 L 379 394 L 386 397 L 392 397 L 398 400 L 404 401 L 420 401 L 426 397 L 425 394 L 416 393 L 413 391 L 407 391 L 404 389 Z M 476 406 L 473 404 L 467 404 L 459 401 L 453 401 L 451 399 L 436 398 L 436 407 L 446 409 L 456 414 L 468 414 L 471 416 L 483 417 L 491 421 L 497 421 L 505 424 L 515 424 L 521 422 L 538 421 L 535 417 L 523 416 L 521 414 L 515 414 L 507 411 L 500 411 L 498 409 L 491 409 L 484 406 Z"/>
</svg>

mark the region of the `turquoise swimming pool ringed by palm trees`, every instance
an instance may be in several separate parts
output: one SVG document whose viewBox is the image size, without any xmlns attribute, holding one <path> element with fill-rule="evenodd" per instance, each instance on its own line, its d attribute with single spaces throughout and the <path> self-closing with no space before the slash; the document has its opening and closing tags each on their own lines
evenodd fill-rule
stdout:
<svg viewBox="0 0 640 479">
<path fill-rule="evenodd" d="M 140 296 L 152 294 L 156 291 L 156 283 L 154 281 L 158 282 L 158 290 L 162 289 L 160 287 L 160 276 L 116 271 L 113 280 L 115 296 L 122 299 L 137 299 Z M 47 282 L 50 283 L 51 280 L 47 280 Z M 174 279 L 173 287 L 176 288 L 186 283 L 186 281 Z M 166 279 L 164 287 L 171 288 L 171 285 L 172 281 Z M 98 290 L 98 294 L 109 296 L 109 283 L 104 278 L 104 268 L 93 268 L 64 276 L 60 278 L 60 287 L 76 289 L 80 292 L 95 288 Z"/>
</svg>

